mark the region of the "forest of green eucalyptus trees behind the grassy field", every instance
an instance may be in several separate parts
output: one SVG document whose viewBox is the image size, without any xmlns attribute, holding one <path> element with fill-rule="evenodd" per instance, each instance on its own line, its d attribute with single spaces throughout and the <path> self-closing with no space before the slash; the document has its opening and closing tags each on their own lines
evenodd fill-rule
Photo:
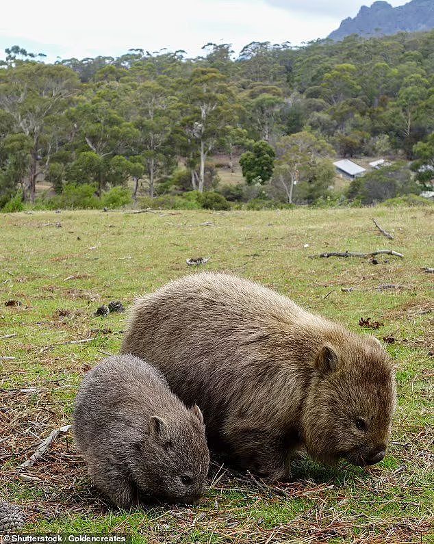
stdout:
<svg viewBox="0 0 434 544">
<path fill-rule="evenodd" d="M 0 209 L 17 195 L 34 203 L 42 179 L 55 194 L 86 187 L 94 199 L 128 181 L 148 200 L 192 190 L 241 198 L 239 187 L 217 186 L 215 155 L 229 169 L 241 155 L 248 198 L 312 203 L 333 181 L 333 157 L 363 155 L 410 164 L 413 173 L 379 176 L 393 181 L 389 196 L 431 187 L 434 31 L 252 42 L 238 58 L 212 43 L 194 59 L 131 49 L 47 64 L 18 46 L 6 53 Z M 362 203 L 375 200 L 368 181 L 352 184 Z"/>
</svg>

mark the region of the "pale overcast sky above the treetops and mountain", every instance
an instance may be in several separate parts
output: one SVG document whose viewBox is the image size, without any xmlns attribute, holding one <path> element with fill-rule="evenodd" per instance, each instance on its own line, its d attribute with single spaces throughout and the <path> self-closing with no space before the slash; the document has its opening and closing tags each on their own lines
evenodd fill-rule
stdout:
<svg viewBox="0 0 434 544">
<path fill-rule="evenodd" d="M 403 5 L 408 0 L 389 0 Z M 370 5 L 372 1 L 366 2 Z M 18 44 L 49 60 L 117 56 L 131 47 L 201 54 L 207 42 L 281 43 L 325 38 L 363 0 L 20 0 L 2 2 L 0 57 Z"/>
</svg>

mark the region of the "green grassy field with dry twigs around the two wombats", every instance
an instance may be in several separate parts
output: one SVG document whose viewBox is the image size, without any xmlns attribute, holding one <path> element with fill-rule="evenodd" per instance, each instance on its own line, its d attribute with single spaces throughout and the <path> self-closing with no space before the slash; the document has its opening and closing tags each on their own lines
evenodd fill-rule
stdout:
<svg viewBox="0 0 434 544">
<path fill-rule="evenodd" d="M 25 510 L 31 532 L 119 532 L 149 543 L 433 542 L 433 275 L 423 270 L 434 265 L 433 222 L 432 208 L 0 216 L 0 496 Z M 379 248 L 404 258 L 309 258 Z M 92 489 L 71 432 L 20 467 L 71 422 L 84 372 L 120 347 L 125 315 L 95 317 L 97 307 L 128 306 L 192 272 L 186 259 L 200 256 L 211 257 L 203 269 L 261 281 L 387 339 L 399 405 L 385 461 L 325 469 L 304 460 L 294 482 L 274 487 L 214 461 L 196 507 L 133 513 L 110 509 Z M 361 318 L 381 326 L 361 328 Z"/>
</svg>

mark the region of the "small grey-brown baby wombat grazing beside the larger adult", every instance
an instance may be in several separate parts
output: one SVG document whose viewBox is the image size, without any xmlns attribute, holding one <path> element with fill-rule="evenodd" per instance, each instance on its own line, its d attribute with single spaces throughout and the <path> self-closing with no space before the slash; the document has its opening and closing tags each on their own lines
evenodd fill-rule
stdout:
<svg viewBox="0 0 434 544">
<path fill-rule="evenodd" d="M 137 357 L 108 357 L 86 374 L 74 435 L 90 478 L 121 508 L 141 496 L 192 502 L 203 492 L 209 451 L 201 411 L 187 409 Z"/>
</svg>

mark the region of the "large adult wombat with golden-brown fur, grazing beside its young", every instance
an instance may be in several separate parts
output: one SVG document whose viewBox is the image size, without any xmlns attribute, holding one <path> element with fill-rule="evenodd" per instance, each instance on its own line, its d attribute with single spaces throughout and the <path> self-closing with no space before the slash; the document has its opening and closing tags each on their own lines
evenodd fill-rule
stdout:
<svg viewBox="0 0 434 544">
<path fill-rule="evenodd" d="M 396 394 L 379 341 L 251 281 L 194 274 L 139 298 L 122 352 L 159 367 L 201 407 L 210 445 L 261 476 L 290 477 L 300 448 L 322 463 L 385 456 Z"/>
</svg>

